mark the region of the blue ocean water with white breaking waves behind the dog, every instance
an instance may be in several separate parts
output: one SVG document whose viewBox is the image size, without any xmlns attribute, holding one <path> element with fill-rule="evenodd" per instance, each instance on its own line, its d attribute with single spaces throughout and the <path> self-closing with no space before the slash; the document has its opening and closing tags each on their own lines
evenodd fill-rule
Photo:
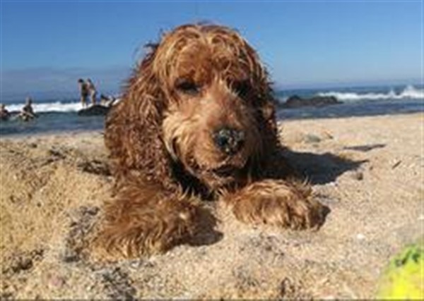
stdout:
<svg viewBox="0 0 424 301">
<path fill-rule="evenodd" d="M 334 96 L 343 104 L 300 109 L 278 109 L 279 120 L 305 118 L 337 118 L 348 116 L 376 116 L 424 111 L 424 85 L 396 85 L 373 87 L 338 87 L 334 89 L 302 89 L 276 91 L 278 102 L 292 95 L 300 97 Z M 22 101 L 1 99 L 8 111 L 20 111 Z M 18 119 L 0 121 L 0 137 L 40 133 L 102 130 L 104 116 L 78 116 L 78 99 L 33 99 L 38 118 L 23 122 Z"/>
</svg>

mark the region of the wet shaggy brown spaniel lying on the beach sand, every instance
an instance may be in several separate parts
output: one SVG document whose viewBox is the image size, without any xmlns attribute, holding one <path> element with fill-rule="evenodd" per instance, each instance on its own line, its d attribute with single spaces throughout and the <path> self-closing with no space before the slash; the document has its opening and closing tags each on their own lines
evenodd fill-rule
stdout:
<svg viewBox="0 0 424 301">
<path fill-rule="evenodd" d="M 271 88 L 245 39 L 183 25 L 150 47 L 107 117 L 117 193 L 105 207 L 105 249 L 135 257 L 186 242 L 204 216 L 192 195 L 221 199 L 247 223 L 319 225 L 310 189 L 276 176 L 288 168 L 278 161 Z"/>
</svg>

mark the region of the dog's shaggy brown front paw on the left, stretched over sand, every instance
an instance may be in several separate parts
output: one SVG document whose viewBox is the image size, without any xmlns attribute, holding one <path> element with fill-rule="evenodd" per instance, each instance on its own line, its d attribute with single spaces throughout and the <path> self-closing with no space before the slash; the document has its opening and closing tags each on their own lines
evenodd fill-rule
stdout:
<svg viewBox="0 0 424 301">
<path fill-rule="evenodd" d="M 93 240 L 96 257 L 110 261 L 163 253 L 192 238 L 199 224 L 199 208 L 188 202 L 131 209 L 100 226 Z"/>
</svg>

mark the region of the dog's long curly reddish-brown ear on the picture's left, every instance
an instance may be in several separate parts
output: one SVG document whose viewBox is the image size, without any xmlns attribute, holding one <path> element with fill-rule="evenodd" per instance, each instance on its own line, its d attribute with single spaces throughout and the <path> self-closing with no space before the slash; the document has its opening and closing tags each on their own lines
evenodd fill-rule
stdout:
<svg viewBox="0 0 424 301">
<path fill-rule="evenodd" d="M 166 100 L 153 72 L 157 47 L 148 46 L 151 52 L 134 69 L 121 101 L 105 122 L 105 145 L 118 183 L 129 177 L 158 180 L 169 173 L 161 137 Z"/>
</svg>

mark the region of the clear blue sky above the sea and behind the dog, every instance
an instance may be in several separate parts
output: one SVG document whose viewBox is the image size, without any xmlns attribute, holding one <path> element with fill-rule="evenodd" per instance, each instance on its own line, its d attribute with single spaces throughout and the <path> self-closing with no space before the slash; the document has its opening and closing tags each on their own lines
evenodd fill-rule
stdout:
<svg viewBox="0 0 424 301">
<path fill-rule="evenodd" d="M 184 23 L 237 29 L 276 89 L 423 80 L 423 0 L 0 0 L 1 97 L 118 92 L 143 44 Z"/>
</svg>

